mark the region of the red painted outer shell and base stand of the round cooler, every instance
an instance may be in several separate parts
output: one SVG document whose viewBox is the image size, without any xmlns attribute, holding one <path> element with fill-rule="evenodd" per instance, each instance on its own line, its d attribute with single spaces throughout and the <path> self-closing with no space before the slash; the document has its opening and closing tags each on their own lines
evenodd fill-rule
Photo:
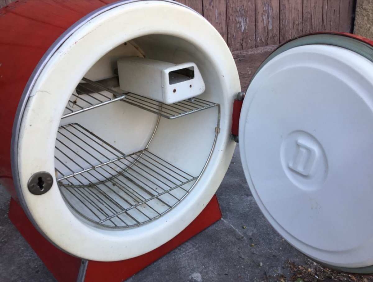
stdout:
<svg viewBox="0 0 373 282">
<path fill-rule="evenodd" d="M 0 10 L 0 183 L 11 194 L 9 218 L 58 281 L 76 281 L 81 259 L 54 247 L 32 226 L 13 186 L 10 141 L 25 85 L 53 42 L 76 21 L 113 1 L 17 1 Z M 90 262 L 85 281 L 122 281 L 221 218 L 216 197 L 178 236 L 143 256 L 121 262 Z"/>
</svg>

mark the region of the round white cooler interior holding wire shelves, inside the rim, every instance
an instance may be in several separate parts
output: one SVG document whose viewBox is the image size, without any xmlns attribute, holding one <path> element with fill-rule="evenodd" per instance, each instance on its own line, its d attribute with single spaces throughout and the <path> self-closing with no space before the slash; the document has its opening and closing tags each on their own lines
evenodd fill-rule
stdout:
<svg viewBox="0 0 373 282">
<path fill-rule="evenodd" d="M 103 227 L 139 226 L 172 210 L 198 183 L 218 137 L 221 91 L 207 82 L 203 94 L 165 104 L 123 91 L 116 75 L 118 59 L 179 65 L 196 60 L 195 48 L 147 35 L 113 48 L 84 75 L 66 104 L 55 148 L 57 183 L 75 214 Z M 195 63 L 213 81 L 204 62 Z M 144 70 L 135 83 L 156 71 Z"/>
</svg>

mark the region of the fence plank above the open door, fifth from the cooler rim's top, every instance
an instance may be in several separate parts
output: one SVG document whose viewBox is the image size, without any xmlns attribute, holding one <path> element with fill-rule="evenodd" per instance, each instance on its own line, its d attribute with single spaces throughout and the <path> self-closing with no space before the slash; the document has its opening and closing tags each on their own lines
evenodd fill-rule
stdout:
<svg viewBox="0 0 373 282">
<path fill-rule="evenodd" d="M 302 0 L 280 0 L 280 43 L 302 34 Z"/>
</svg>

